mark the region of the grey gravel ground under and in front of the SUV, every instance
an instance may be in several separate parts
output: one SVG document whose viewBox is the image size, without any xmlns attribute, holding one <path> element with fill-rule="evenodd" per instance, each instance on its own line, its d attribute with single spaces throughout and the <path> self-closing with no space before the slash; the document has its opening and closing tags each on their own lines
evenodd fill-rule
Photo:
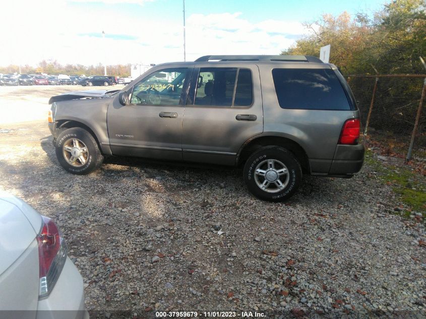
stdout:
<svg viewBox="0 0 426 319">
<path fill-rule="evenodd" d="M 71 175 L 45 123 L 0 129 L 0 188 L 57 221 L 90 310 L 424 314 L 424 224 L 393 214 L 400 203 L 368 166 L 305 176 L 274 204 L 235 169 L 107 159 Z"/>
</svg>

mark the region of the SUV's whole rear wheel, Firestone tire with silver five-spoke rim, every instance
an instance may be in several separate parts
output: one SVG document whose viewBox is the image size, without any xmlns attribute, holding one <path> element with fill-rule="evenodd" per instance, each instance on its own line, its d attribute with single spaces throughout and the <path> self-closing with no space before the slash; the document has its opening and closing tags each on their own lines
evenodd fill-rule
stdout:
<svg viewBox="0 0 426 319">
<path fill-rule="evenodd" d="M 285 148 L 265 146 L 249 157 L 242 177 L 257 198 L 282 202 L 293 196 L 300 186 L 302 170 L 294 155 Z"/>
</svg>

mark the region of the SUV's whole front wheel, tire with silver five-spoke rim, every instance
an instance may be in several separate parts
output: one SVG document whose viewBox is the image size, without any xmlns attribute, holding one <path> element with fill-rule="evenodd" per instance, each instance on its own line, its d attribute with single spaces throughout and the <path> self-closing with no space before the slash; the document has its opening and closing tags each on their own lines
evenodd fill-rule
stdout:
<svg viewBox="0 0 426 319">
<path fill-rule="evenodd" d="M 72 127 L 60 132 L 56 139 L 55 153 L 59 164 L 66 171 L 77 175 L 89 174 L 103 161 L 96 140 L 81 127 Z"/>
</svg>

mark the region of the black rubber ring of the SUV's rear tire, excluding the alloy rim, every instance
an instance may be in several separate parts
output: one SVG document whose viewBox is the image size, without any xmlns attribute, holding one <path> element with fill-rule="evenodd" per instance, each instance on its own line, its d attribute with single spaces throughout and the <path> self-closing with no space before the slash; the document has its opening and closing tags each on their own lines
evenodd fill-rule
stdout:
<svg viewBox="0 0 426 319">
<path fill-rule="evenodd" d="M 282 162 L 287 167 L 290 174 L 288 184 L 283 190 L 277 193 L 265 192 L 256 184 L 255 181 L 254 171 L 257 165 L 268 159 L 275 159 Z M 247 160 L 243 174 L 244 181 L 250 192 L 259 199 L 271 202 L 285 201 L 293 196 L 297 188 L 300 186 L 302 179 L 299 162 L 294 158 L 292 153 L 282 147 L 264 147 L 256 151 Z"/>
</svg>

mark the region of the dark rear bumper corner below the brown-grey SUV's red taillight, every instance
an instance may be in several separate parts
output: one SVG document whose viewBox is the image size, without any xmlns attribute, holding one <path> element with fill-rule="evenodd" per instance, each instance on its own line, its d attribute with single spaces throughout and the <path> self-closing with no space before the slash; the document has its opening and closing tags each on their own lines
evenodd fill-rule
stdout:
<svg viewBox="0 0 426 319">
<path fill-rule="evenodd" d="M 329 175 L 346 175 L 359 172 L 364 162 L 364 146 L 337 145 Z"/>
</svg>

